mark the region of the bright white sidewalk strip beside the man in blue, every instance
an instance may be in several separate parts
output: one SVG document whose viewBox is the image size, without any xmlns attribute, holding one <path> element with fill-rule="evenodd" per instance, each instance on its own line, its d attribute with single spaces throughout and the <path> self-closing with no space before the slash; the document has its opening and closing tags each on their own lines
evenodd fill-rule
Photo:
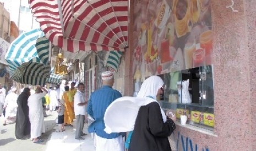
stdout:
<svg viewBox="0 0 256 151">
<path fill-rule="evenodd" d="M 58 130 L 56 124 L 55 129 Z M 47 142 L 47 151 L 52 150 L 88 150 L 94 151 L 94 140 L 91 138 L 90 133 L 88 133 L 88 124 L 84 125 L 84 132 L 87 133 L 86 136 L 83 136 L 85 140 L 75 140 L 75 129 L 74 127 L 65 126 L 66 131 L 63 132 L 52 132 L 52 135 L 49 137 Z"/>
</svg>

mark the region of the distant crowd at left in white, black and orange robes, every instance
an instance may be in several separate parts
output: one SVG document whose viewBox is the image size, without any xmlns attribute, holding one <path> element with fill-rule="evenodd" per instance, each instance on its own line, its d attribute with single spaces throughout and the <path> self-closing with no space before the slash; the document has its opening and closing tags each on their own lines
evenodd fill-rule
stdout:
<svg viewBox="0 0 256 151">
<path fill-rule="evenodd" d="M 69 89 L 70 85 L 70 89 Z M 64 126 L 73 126 L 74 116 L 74 95 L 77 92 L 75 83 L 66 83 L 63 80 L 61 85 L 50 87 L 32 86 L 20 87 L 20 94 L 17 88 L 10 88 L 6 95 L 6 89 L 0 84 L 0 117 L 4 115 L 4 123 L 15 123 L 15 136 L 17 139 L 31 139 L 34 143 L 41 143 L 39 137 L 45 132 L 44 117 L 46 111 L 58 112 L 59 130 L 64 131 Z"/>
</svg>

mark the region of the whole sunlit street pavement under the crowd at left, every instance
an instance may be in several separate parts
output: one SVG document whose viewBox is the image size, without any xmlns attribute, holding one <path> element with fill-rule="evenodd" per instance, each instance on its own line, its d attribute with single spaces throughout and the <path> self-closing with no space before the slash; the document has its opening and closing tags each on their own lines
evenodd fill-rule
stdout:
<svg viewBox="0 0 256 151">
<path fill-rule="evenodd" d="M 33 143 L 28 140 L 17 140 L 15 137 L 15 123 L 3 126 L 4 118 L 0 117 L 0 150 L 13 151 L 13 150 L 26 150 L 26 151 L 51 151 L 51 150 L 68 150 L 78 151 L 87 150 L 94 151 L 94 141 L 91 135 L 87 132 L 88 124 L 84 125 L 84 132 L 88 135 L 84 136 L 85 140 L 75 140 L 75 129 L 71 126 L 65 126 L 66 131 L 56 132 L 58 126 L 55 123 L 58 117 L 57 112 L 47 111 L 45 118 L 45 130 L 39 138 L 45 140 L 42 143 Z M 74 125 L 74 124 L 73 124 Z"/>
</svg>

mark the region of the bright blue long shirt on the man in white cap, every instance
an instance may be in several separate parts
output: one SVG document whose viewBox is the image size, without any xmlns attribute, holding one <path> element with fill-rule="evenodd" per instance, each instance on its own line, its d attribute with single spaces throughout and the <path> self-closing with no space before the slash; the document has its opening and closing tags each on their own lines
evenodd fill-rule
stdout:
<svg viewBox="0 0 256 151">
<path fill-rule="evenodd" d="M 91 115 L 95 121 L 88 127 L 88 132 L 95 132 L 97 136 L 107 139 L 116 138 L 121 135 L 120 133 L 108 134 L 104 131 L 104 114 L 106 109 L 114 100 L 119 97 L 122 97 L 122 94 L 107 85 L 102 86 L 102 88 L 91 94 L 87 106 L 87 113 Z"/>
</svg>

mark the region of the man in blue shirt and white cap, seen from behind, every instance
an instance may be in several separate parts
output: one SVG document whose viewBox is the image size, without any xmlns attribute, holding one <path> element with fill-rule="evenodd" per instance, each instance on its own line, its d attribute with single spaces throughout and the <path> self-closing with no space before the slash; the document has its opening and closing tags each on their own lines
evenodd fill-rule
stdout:
<svg viewBox="0 0 256 151">
<path fill-rule="evenodd" d="M 114 75 L 110 71 L 101 74 L 102 88 L 91 94 L 88 102 L 87 113 L 95 119 L 88 128 L 88 132 L 95 133 L 96 151 L 123 151 L 124 143 L 121 133 L 106 133 L 104 114 L 107 107 L 122 94 L 112 89 L 114 84 Z"/>
</svg>

